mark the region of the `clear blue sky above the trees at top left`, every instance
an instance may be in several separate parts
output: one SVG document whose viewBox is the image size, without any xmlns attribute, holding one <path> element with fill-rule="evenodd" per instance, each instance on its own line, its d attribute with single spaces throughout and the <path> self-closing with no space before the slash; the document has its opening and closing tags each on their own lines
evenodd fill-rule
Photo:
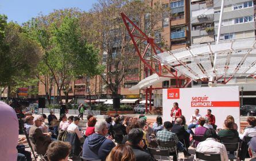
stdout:
<svg viewBox="0 0 256 161">
<path fill-rule="evenodd" d="M 9 21 L 22 24 L 38 13 L 44 15 L 51 13 L 54 9 L 66 7 L 78 7 L 88 11 L 96 0 L 0 0 L 0 14 L 5 14 Z"/>
</svg>

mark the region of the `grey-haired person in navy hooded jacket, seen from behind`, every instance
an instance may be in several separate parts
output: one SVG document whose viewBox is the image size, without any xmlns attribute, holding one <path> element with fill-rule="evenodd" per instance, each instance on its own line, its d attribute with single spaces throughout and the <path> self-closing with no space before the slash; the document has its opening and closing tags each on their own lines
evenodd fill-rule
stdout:
<svg viewBox="0 0 256 161">
<path fill-rule="evenodd" d="M 111 136 L 106 137 L 107 133 L 107 122 L 97 121 L 95 124 L 95 133 L 89 135 L 83 144 L 84 158 L 88 160 L 106 160 L 107 155 L 115 147 Z"/>
</svg>

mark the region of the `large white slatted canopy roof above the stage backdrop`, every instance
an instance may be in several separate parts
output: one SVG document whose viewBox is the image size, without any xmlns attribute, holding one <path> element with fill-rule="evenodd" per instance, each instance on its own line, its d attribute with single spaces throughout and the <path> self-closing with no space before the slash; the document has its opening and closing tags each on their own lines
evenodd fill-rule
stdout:
<svg viewBox="0 0 256 161">
<path fill-rule="evenodd" d="M 255 44 L 255 38 L 220 41 L 163 52 L 155 58 L 192 80 L 250 76 L 256 73 Z"/>
</svg>

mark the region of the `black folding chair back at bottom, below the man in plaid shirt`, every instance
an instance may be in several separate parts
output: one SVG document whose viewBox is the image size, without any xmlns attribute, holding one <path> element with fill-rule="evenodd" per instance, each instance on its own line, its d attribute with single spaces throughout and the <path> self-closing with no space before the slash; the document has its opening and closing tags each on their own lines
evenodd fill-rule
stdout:
<svg viewBox="0 0 256 161">
<path fill-rule="evenodd" d="M 149 153 L 156 160 L 170 160 L 169 150 L 168 149 L 158 149 L 148 147 Z"/>
</svg>

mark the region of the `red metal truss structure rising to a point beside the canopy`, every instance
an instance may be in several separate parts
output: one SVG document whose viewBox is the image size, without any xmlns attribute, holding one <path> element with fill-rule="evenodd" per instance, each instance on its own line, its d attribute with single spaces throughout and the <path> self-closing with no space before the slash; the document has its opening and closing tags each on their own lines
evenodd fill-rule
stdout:
<svg viewBox="0 0 256 161">
<path fill-rule="evenodd" d="M 164 67 L 164 69 L 166 69 L 168 71 L 168 73 L 170 73 L 172 76 L 166 76 L 162 74 L 162 66 L 161 66 L 161 62 L 158 60 L 149 60 L 147 58 L 145 58 L 145 54 L 146 52 L 148 52 L 148 50 L 151 48 L 153 51 L 153 54 L 157 54 L 157 51 L 162 53 L 164 52 L 161 48 L 159 48 L 155 43 L 154 43 L 154 38 L 152 37 L 148 37 L 145 33 L 142 32 L 141 29 L 138 28 L 137 25 L 134 24 L 133 21 L 131 21 L 124 13 L 121 13 L 121 17 L 123 19 L 123 22 L 125 23 L 126 29 L 131 37 L 131 41 L 133 42 L 133 45 L 135 47 L 135 50 L 139 56 L 139 59 L 143 62 L 143 64 L 145 64 L 144 66 L 144 71 L 146 71 L 146 77 L 150 76 L 152 73 L 156 73 L 159 77 L 169 77 L 169 78 L 173 78 L 176 79 L 176 87 L 174 88 L 185 88 L 187 87 L 190 83 L 191 83 L 191 79 L 185 76 L 177 76 L 177 72 L 172 72 L 167 66 L 162 65 Z M 130 26 L 129 26 L 130 25 Z M 147 45 L 146 48 L 143 50 L 143 52 L 141 52 L 139 50 L 138 47 L 138 40 L 140 41 L 146 41 Z M 156 70 L 155 66 L 152 65 L 152 63 L 150 62 L 154 62 L 155 64 L 157 64 L 158 66 L 158 70 Z M 148 73 L 148 69 L 150 69 L 150 73 Z M 185 85 L 181 85 L 181 80 L 187 80 Z M 145 93 L 146 93 L 146 107 L 148 107 L 148 93 L 150 96 L 149 99 L 149 108 L 150 110 L 152 109 L 151 107 L 151 96 L 152 96 L 152 90 L 153 89 L 163 89 L 163 88 L 152 88 L 152 86 L 150 86 L 150 88 L 146 88 L 145 89 Z M 146 112 L 148 112 L 148 108 L 146 108 Z"/>
</svg>

